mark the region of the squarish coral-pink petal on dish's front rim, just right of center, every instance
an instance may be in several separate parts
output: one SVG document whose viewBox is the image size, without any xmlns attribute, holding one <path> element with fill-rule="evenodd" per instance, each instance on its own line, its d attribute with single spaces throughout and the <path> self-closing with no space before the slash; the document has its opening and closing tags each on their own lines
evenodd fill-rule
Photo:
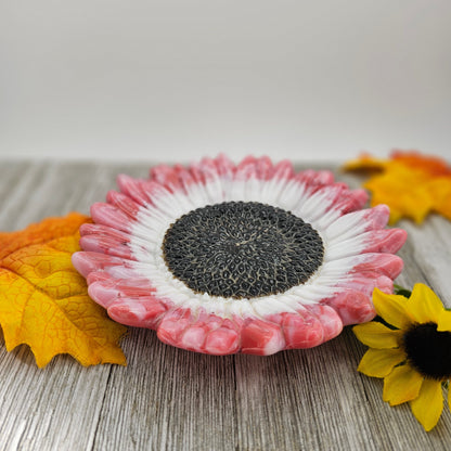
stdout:
<svg viewBox="0 0 451 451">
<path fill-rule="evenodd" d="M 285 348 L 281 326 L 257 318 L 247 318 L 242 328 L 242 352 L 269 356 Z"/>
</svg>

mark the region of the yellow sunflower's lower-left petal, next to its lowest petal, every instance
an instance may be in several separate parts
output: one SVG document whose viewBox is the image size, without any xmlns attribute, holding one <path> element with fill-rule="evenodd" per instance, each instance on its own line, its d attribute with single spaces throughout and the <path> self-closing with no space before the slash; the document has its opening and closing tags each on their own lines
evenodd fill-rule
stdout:
<svg viewBox="0 0 451 451">
<path fill-rule="evenodd" d="M 397 366 L 384 379 L 383 399 L 390 405 L 412 401 L 418 396 L 423 376 L 410 365 Z"/>
</svg>

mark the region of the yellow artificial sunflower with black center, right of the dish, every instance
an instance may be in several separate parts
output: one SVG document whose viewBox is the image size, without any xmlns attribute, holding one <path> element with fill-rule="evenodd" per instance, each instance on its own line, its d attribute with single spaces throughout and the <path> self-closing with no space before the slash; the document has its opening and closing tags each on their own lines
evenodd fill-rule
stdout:
<svg viewBox="0 0 451 451">
<path fill-rule="evenodd" d="M 416 420 L 430 430 L 443 410 L 442 389 L 451 378 L 451 311 L 421 283 L 410 297 L 375 288 L 373 302 L 387 325 L 372 321 L 353 327 L 360 342 L 370 346 L 358 371 L 383 377 L 384 401 L 409 401 Z"/>
</svg>

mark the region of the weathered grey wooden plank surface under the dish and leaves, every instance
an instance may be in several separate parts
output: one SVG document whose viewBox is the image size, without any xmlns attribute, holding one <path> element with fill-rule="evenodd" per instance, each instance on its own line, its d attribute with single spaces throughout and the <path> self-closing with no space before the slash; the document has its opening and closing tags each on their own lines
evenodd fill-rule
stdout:
<svg viewBox="0 0 451 451">
<path fill-rule="evenodd" d="M 0 163 L 0 230 L 72 210 L 89 214 L 119 172 L 151 165 Z M 350 175 L 337 179 L 359 184 Z M 451 223 L 434 216 L 409 239 L 398 282 L 429 284 L 451 307 Z M 129 328 L 128 366 L 83 368 L 59 356 L 37 369 L 0 332 L 0 450 L 448 450 L 451 414 L 426 434 L 407 404 L 389 408 L 383 383 L 356 368 L 365 347 L 350 327 L 313 349 L 214 357 Z"/>
</svg>

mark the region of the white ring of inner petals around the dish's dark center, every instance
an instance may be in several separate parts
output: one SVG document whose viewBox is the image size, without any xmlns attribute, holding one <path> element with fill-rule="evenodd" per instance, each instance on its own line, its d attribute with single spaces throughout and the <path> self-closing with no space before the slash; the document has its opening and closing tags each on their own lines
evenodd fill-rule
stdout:
<svg viewBox="0 0 451 451">
<path fill-rule="evenodd" d="M 295 311 L 301 306 L 318 304 L 338 292 L 340 288 L 335 285 L 343 281 L 356 265 L 357 259 L 349 254 L 357 255 L 362 247 L 362 240 L 355 236 L 359 232 L 352 230 L 358 222 L 357 219 L 346 220 L 342 217 L 339 227 L 333 223 L 326 229 L 321 229 L 318 224 L 328 203 L 324 202 L 322 195 L 309 196 L 305 185 L 297 181 L 248 179 L 221 182 L 218 178 L 207 185 L 190 184 L 186 191 L 186 193 L 162 191 L 157 198 L 154 198 L 153 194 L 154 205 L 141 207 L 137 222 L 132 226 L 130 240 L 130 247 L 137 259 L 136 262 L 131 262 L 134 271 L 155 286 L 156 297 L 170 298 L 176 306 L 186 307 L 193 311 L 202 307 L 207 312 L 222 318 L 263 317 L 282 311 Z M 193 209 L 230 201 L 254 201 L 288 209 L 306 222 L 310 222 L 323 240 L 324 263 L 305 284 L 276 295 L 231 299 L 193 292 L 173 276 L 164 260 L 162 245 L 166 231 L 177 219 Z M 333 233 L 330 232 L 331 228 Z M 344 242 L 344 239 L 347 241 Z M 339 263 L 334 265 L 337 259 Z"/>
</svg>

